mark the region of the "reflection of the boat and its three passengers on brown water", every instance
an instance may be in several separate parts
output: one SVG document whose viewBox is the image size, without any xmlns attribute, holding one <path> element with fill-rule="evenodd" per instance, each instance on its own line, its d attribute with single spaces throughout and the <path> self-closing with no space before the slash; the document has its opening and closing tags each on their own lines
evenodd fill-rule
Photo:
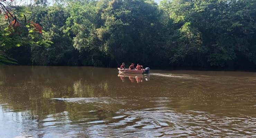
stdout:
<svg viewBox="0 0 256 138">
<path fill-rule="evenodd" d="M 125 78 L 129 78 L 131 82 L 143 82 L 143 80 L 148 81 L 149 80 L 149 75 L 142 75 L 142 74 L 132 74 L 132 73 L 119 73 L 118 77 L 122 80 L 122 82 L 125 82 Z"/>
</svg>

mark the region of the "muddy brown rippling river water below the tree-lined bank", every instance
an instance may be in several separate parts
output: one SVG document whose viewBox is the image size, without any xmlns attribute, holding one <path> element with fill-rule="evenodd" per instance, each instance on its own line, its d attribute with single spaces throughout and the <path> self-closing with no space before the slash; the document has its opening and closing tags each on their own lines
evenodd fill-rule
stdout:
<svg viewBox="0 0 256 138">
<path fill-rule="evenodd" d="M 256 73 L 0 68 L 0 138 L 256 137 Z"/>
</svg>

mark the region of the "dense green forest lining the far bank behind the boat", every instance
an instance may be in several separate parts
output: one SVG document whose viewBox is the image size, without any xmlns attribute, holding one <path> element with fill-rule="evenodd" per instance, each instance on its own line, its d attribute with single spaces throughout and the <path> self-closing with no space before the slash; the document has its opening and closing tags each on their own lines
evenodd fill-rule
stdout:
<svg viewBox="0 0 256 138">
<path fill-rule="evenodd" d="M 17 8 L 28 24 L 20 31 L 2 9 L 0 62 L 256 67 L 256 0 L 36 0 Z"/>
</svg>

